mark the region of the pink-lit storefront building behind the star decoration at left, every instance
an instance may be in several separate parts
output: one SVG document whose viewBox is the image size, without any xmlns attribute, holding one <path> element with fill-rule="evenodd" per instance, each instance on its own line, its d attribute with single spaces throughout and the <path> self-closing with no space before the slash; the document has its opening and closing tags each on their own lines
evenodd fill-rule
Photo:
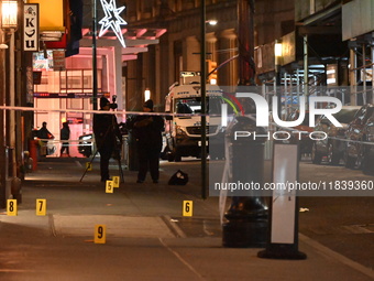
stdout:
<svg viewBox="0 0 374 281">
<path fill-rule="evenodd" d="M 118 1 L 117 7 L 125 8 L 121 1 Z M 111 101 L 116 100 L 119 110 L 125 108 L 127 82 L 122 76 L 123 65 L 128 61 L 138 60 L 139 54 L 148 52 L 148 46 L 158 44 L 158 37 L 166 32 L 153 26 L 129 28 L 123 24 L 120 26 L 125 42 L 123 47 L 112 29 L 101 33 L 100 22 L 105 12 L 100 1 L 97 1 L 97 35 L 100 36 L 96 37 L 94 44 L 92 1 L 81 1 L 81 36 L 75 53 L 65 57 L 68 45 L 64 45 L 62 39 L 57 42 L 46 42 L 41 52 L 33 54 L 32 60 L 33 74 L 37 77 L 34 79 L 30 102 L 36 109 L 32 126 L 37 129 L 44 121 L 47 122 L 50 131 L 56 138 L 57 149 L 54 156 L 59 155 L 59 129 L 64 121 L 69 122 L 70 139 L 78 140 L 79 136 L 92 132 L 92 110 L 99 109 L 98 99 L 101 96 Z M 64 13 L 66 14 L 66 11 Z M 119 17 L 125 21 L 123 12 Z M 65 25 L 68 23 L 65 22 Z M 42 111 L 45 108 L 50 110 Z M 119 122 L 124 118 L 124 115 L 118 115 Z M 72 143 L 73 156 L 81 156 L 77 144 Z"/>
</svg>

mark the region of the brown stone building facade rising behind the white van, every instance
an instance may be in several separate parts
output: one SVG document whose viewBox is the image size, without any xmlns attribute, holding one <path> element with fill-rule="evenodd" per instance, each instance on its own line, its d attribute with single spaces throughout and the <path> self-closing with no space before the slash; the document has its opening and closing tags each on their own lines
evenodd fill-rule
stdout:
<svg viewBox="0 0 374 281">
<path fill-rule="evenodd" d="M 163 110 L 168 87 L 179 82 L 182 71 L 200 71 L 201 1 L 162 0 L 128 1 L 130 26 L 160 26 L 167 30 L 160 44 L 139 60 L 127 62 L 127 109 L 139 109 L 144 90 L 150 89 Z M 206 58 L 217 62 L 218 85 L 238 85 L 239 80 L 239 11 L 242 2 L 254 10 L 254 45 L 271 43 L 294 30 L 294 1 L 207 0 L 206 19 L 217 25 L 206 26 Z M 248 11 L 250 17 L 250 10 Z M 274 71 L 274 64 L 273 64 Z"/>
</svg>

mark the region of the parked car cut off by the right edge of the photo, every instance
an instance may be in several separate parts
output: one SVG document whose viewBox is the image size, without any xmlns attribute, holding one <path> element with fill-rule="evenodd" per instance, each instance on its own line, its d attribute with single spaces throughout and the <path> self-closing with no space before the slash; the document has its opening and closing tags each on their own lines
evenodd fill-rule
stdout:
<svg viewBox="0 0 374 281">
<path fill-rule="evenodd" d="M 345 166 L 359 167 L 365 173 L 372 169 L 370 152 L 372 150 L 370 144 L 363 142 L 372 141 L 374 144 L 374 105 L 367 104 L 360 108 L 354 119 L 350 122 L 345 138 Z M 373 163 L 373 162 L 372 162 Z"/>
</svg>

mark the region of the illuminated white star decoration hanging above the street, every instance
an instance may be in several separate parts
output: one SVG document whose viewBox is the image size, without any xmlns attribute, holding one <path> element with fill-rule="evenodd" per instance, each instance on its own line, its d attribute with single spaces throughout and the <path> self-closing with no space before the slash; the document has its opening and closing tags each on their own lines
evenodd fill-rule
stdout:
<svg viewBox="0 0 374 281">
<path fill-rule="evenodd" d="M 124 6 L 117 8 L 116 0 L 100 0 L 106 17 L 102 18 L 99 23 L 101 24 L 99 37 L 108 30 L 111 29 L 122 46 L 125 47 L 124 39 L 121 32 L 121 25 L 128 24 L 121 17 L 120 13 L 124 10 Z"/>
</svg>

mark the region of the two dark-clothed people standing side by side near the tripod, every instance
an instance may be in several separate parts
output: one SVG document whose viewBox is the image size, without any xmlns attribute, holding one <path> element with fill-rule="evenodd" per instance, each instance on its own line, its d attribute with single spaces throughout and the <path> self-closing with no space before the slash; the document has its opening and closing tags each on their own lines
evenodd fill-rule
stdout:
<svg viewBox="0 0 374 281">
<path fill-rule="evenodd" d="M 109 111 L 113 104 L 106 97 L 100 98 L 100 110 Z M 138 115 L 127 120 L 127 128 L 132 130 L 136 140 L 139 158 L 139 173 L 136 183 L 143 183 L 147 171 L 151 173 L 153 183 L 158 183 L 160 153 L 162 149 L 162 131 L 164 119 L 160 116 L 146 115 L 153 112 L 153 100 L 148 99 L 143 105 L 145 115 Z M 98 151 L 100 153 L 101 182 L 110 179 L 109 160 L 116 151 L 120 151 L 122 136 L 117 118 L 111 114 L 94 115 L 94 133 Z"/>
</svg>

